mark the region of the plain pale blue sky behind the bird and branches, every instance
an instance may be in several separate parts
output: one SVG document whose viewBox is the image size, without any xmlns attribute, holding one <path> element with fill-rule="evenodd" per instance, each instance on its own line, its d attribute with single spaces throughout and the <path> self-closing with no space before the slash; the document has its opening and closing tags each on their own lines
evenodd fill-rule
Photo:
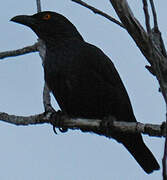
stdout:
<svg viewBox="0 0 167 180">
<path fill-rule="evenodd" d="M 117 17 L 109 1 L 85 2 Z M 128 2 L 144 24 L 141 1 Z M 167 2 L 159 1 L 156 7 L 166 44 Z M 87 42 L 100 47 L 112 59 L 139 122 L 160 124 L 165 121 L 165 104 L 157 81 L 145 69 L 147 61 L 125 30 L 70 0 L 43 0 L 42 9 L 65 15 Z M 37 37 L 29 28 L 9 21 L 15 15 L 34 13 L 35 0 L 1 2 L 0 51 L 36 42 Z M 0 72 L 1 112 L 26 116 L 43 112 L 44 80 L 38 53 L 5 59 L 0 62 Z M 58 109 L 54 98 L 52 103 Z M 143 137 L 161 164 L 164 139 Z M 146 175 L 121 144 L 95 134 L 68 131 L 55 135 L 49 125 L 16 127 L 1 122 L 0 142 L 0 179 L 3 180 L 162 179 L 162 168 Z"/>
</svg>

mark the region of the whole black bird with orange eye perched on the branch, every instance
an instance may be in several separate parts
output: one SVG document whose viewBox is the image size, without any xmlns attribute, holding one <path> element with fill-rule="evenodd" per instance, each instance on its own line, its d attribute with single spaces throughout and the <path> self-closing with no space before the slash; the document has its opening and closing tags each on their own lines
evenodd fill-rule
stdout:
<svg viewBox="0 0 167 180">
<path fill-rule="evenodd" d="M 114 64 L 99 48 L 85 42 L 67 18 L 45 11 L 16 16 L 11 21 L 30 27 L 44 41 L 45 81 L 64 113 L 89 119 L 114 116 L 117 121 L 136 122 Z M 122 143 L 146 173 L 159 169 L 140 134 L 113 131 L 110 137 Z"/>
</svg>

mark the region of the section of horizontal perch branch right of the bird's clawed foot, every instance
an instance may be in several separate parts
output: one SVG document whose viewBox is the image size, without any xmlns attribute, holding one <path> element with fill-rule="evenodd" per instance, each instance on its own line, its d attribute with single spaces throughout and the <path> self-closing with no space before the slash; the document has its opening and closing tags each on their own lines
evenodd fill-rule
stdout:
<svg viewBox="0 0 167 180">
<path fill-rule="evenodd" d="M 147 134 L 149 136 L 156 136 L 156 137 L 164 137 L 165 136 L 165 125 L 153 125 L 153 124 L 142 124 L 138 122 L 120 122 L 115 121 L 113 118 L 113 121 L 111 117 L 109 117 L 111 120 L 111 124 L 107 125 L 104 132 L 106 131 L 119 131 L 123 133 L 143 133 Z M 62 118 L 63 120 L 63 127 L 70 127 L 70 128 L 79 128 L 82 129 L 85 128 L 88 129 L 88 131 L 93 130 L 94 128 L 97 130 L 97 128 L 101 128 L 102 120 L 99 119 L 67 119 Z M 164 128 L 162 128 L 164 127 Z M 110 133 L 108 133 L 110 134 Z"/>
</svg>

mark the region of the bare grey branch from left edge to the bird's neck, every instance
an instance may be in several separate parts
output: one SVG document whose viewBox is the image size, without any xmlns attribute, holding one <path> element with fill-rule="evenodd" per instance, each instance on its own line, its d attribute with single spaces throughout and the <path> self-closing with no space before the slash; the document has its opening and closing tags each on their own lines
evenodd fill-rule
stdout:
<svg viewBox="0 0 167 180">
<path fill-rule="evenodd" d="M 32 46 L 27 46 L 27 47 L 24 47 L 21 49 L 0 52 L 0 59 L 7 58 L 7 57 L 13 57 L 13 56 L 19 56 L 19 55 L 23 55 L 23 54 L 28 54 L 31 52 L 36 52 L 37 46 L 38 46 L 38 43 L 35 43 Z"/>
</svg>

